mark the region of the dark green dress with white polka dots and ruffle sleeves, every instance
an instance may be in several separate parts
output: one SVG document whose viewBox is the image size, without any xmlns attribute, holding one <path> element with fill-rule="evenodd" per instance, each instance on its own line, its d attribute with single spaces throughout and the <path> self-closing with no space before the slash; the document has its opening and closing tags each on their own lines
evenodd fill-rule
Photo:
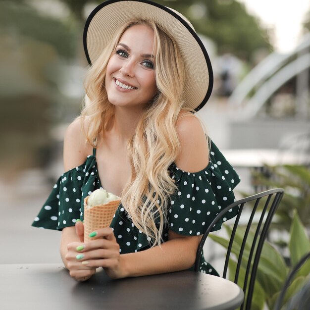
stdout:
<svg viewBox="0 0 310 310">
<path fill-rule="evenodd" d="M 204 234 L 219 210 L 236 201 L 232 190 L 240 182 L 239 176 L 213 142 L 205 169 L 190 173 L 172 163 L 169 171 L 178 190 L 170 197 L 162 235 L 164 242 L 170 229 L 184 236 Z M 75 225 L 77 219 L 83 220 L 84 198 L 101 187 L 94 150 L 82 165 L 60 176 L 32 226 L 62 230 Z M 234 217 L 237 211 L 237 208 L 229 210 L 212 230 L 220 229 L 222 222 Z M 110 227 L 121 254 L 143 251 L 152 246 L 152 239 L 135 227 L 121 204 Z M 218 275 L 203 257 L 200 271 Z"/>
</svg>

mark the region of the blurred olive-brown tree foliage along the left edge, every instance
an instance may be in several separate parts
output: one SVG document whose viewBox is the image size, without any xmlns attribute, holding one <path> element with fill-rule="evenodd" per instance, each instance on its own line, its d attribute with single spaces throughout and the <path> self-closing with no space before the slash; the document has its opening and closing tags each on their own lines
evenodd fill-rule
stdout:
<svg viewBox="0 0 310 310">
<path fill-rule="evenodd" d="M 0 170 L 2 173 L 46 162 L 62 96 L 51 77 L 62 59 L 75 55 L 68 24 L 41 15 L 26 1 L 0 0 Z"/>
</svg>

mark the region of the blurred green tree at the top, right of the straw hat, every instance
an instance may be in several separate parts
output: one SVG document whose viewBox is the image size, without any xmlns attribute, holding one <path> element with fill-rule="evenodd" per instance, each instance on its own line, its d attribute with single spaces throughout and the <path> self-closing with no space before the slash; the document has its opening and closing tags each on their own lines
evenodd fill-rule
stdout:
<svg viewBox="0 0 310 310">
<path fill-rule="evenodd" d="M 219 54 L 230 52 L 250 61 L 258 49 L 272 50 L 268 32 L 236 0 L 158 0 L 188 17 L 198 33 L 212 39 Z"/>
</svg>

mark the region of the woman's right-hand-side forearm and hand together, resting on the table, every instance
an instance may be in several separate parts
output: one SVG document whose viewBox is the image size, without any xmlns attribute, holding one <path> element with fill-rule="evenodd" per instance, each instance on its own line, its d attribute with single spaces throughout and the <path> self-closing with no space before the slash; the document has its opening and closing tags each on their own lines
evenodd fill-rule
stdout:
<svg viewBox="0 0 310 310">
<path fill-rule="evenodd" d="M 68 258 L 70 261 L 75 260 L 81 267 L 103 267 L 113 279 L 188 269 L 195 262 L 201 239 L 201 236 L 181 236 L 170 231 L 169 240 L 160 247 L 120 255 L 119 245 L 111 228 L 98 229 L 96 233 L 96 238 L 99 239 L 84 243 L 84 248 L 79 251 L 82 258 L 76 258 L 75 243 L 68 246 Z"/>
</svg>

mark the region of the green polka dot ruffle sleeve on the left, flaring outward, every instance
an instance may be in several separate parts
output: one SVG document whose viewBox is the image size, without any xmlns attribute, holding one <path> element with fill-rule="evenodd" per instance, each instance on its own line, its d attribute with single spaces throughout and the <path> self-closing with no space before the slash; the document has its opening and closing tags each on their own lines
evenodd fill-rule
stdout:
<svg viewBox="0 0 310 310">
<path fill-rule="evenodd" d="M 59 177 L 32 226 L 61 230 L 83 219 L 84 198 L 100 187 L 95 161 L 90 155 L 85 163 Z"/>
</svg>

